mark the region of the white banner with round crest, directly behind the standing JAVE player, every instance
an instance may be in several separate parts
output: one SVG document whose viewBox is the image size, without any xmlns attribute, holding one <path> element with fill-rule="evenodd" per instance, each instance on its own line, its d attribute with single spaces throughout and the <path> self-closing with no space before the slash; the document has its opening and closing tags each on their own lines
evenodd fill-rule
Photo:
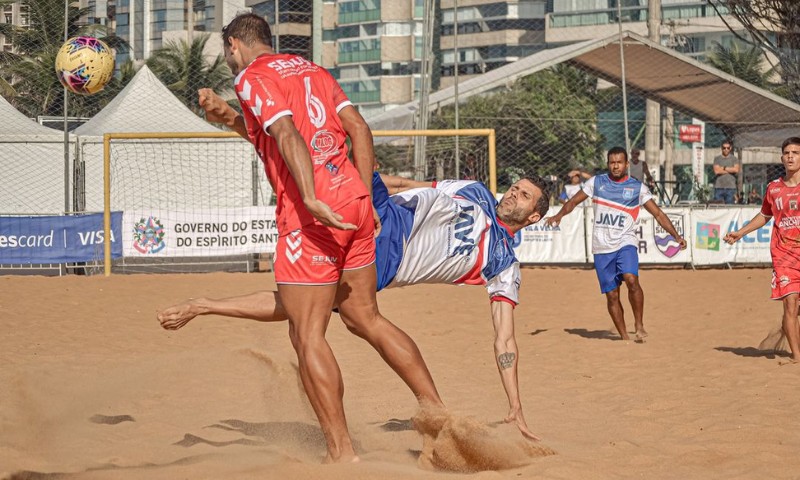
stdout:
<svg viewBox="0 0 800 480">
<path fill-rule="evenodd" d="M 639 263 L 691 263 L 692 250 L 690 232 L 687 230 L 690 219 L 688 208 L 663 208 L 675 229 L 686 239 L 686 250 L 681 250 L 678 242 L 668 234 L 652 215 L 644 208 L 639 211 L 636 220 L 636 236 L 639 238 Z M 592 220 L 594 211 L 586 212 L 586 248 L 589 252 L 589 262 L 593 262 L 592 251 Z"/>
</svg>

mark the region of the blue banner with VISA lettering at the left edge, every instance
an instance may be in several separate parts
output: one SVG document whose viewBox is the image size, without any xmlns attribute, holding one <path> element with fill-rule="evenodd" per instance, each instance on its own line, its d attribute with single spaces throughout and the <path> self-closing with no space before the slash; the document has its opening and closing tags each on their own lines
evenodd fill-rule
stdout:
<svg viewBox="0 0 800 480">
<path fill-rule="evenodd" d="M 103 258 L 103 214 L 0 217 L 0 264 Z M 122 257 L 122 212 L 111 214 L 111 257 Z"/>
</svg>

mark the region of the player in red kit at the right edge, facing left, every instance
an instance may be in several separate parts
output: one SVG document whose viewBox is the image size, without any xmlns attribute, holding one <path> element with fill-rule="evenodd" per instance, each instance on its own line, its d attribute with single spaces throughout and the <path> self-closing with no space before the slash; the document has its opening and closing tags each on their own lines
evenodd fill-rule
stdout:
<svg viewBox="0 0 800 480">
<path fill-rule="evenodd" d="M 761 212 L 750 223 L 725 235 L 733 244 L 774 218 L 769 250 L 772 255 L 772 299 L 783 301 L 783 333 L 792 351 L 792 362 L 800 362 L 800 137 L 790 137 L 781 146 L 786 174 L 769 183 Z"/>
</svg>

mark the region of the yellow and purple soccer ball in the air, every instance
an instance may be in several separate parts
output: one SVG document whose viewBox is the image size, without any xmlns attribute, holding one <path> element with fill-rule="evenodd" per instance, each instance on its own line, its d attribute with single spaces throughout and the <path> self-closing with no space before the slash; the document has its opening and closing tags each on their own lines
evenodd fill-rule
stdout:
<svg viewBox="0 0 800 480">
<path fill-rule="evenodd" d="M 95 94 L 114 74 L 114 52 L 94 37 L 70 38 L 56 55 L 56 74 L 72 93 Z"/>
</svg>

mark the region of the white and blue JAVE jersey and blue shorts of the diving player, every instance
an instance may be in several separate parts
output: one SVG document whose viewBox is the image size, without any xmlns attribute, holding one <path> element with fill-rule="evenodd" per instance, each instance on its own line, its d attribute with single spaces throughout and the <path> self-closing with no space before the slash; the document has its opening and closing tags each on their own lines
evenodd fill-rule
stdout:
<svg viewBox="0 0 800 480">
<path fill-rule="evenodd" d="M 483 184 L 448 180 L 389 196 L 375 174 L 372 195 L 382 222 L 376 239 L 379 290 L 417 283 L 485 285 L 491 298 L 519 303 L 514 234 L 498 220 L 497 200 Z"/>
</svg>

